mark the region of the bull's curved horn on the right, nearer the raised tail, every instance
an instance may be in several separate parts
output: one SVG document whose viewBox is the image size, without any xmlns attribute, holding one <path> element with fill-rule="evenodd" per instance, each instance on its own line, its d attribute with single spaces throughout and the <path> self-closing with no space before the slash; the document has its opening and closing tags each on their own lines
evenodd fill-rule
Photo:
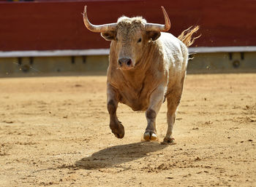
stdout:
<svg viewBox="0 0 256 187">
<path fill-rule="evenodd" d="M 164 7 L 162 7 L 162 12 L 164 13 L 164 16 L 165 16 L 165 25 L 157 24 L 157 23 L 146 23 L 146 31 L 159 31 L 159 32 L 169 31 L 170 19 Z"/>
</svg>

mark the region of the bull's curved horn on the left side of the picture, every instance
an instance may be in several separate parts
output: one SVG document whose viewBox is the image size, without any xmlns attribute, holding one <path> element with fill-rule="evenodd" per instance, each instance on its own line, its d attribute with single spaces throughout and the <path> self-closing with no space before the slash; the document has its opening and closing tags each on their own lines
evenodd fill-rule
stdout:
<svg viewBox="0 0 256 187">
<path fill-rule="evenodd" d="M 86 28 L 88 28 L 92 32 L 102 33 L 106 31 L 114 31 L 116 29 L 116 23 L 109 23 L 104 25 L 93 25 L 89 22 L 86 7 L 84 7 L 83 12 L 83 23 L 86 25 Z"/>
</svg>

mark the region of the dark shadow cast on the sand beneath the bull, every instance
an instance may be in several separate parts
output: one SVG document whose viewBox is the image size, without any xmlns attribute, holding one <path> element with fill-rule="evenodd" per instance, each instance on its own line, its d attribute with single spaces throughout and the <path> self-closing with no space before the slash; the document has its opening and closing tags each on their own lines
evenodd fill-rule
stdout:
<svg viewBox="0 0 256 187">
<path fill-rule="evenodd" d="M 140 142 L 113 146 L 80 159 L 75 162 L 75 167 L 84 170 L 115 167 L 118 164 L 146 157 L 148 153 L 162 150 L 165 147 L 166 145 L 161 145 L 157 142 Z"/>
</svg>

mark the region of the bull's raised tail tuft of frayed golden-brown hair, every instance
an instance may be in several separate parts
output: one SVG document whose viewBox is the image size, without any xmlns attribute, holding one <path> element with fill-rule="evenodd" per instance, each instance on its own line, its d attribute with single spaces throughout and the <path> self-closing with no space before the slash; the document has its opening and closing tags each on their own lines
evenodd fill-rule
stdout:
<svg viewBox="0 0 256 187">
<path fill-rule="evenodd" d="M 198 29 L 198 25 L 196 25 L 194 28 L 192 28 L 192 26 L 189 27 L 183 31 L 180 36 L 178 36 L 178 39 L 180 39 L 187 47 L 189 47 L 194 43 L 195 39 L 198 39 L 201 36 L 199 35 L 195 38 L 192 38 L 193 33 L 196 33 Z"/>
</svg>

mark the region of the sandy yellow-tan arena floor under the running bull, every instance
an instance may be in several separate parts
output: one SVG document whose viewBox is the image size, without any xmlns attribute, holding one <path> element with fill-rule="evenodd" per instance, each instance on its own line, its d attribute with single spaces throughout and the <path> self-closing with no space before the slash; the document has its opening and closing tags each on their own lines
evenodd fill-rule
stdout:
<svg viewBox="0 0 256 187">
<path fill-rule="evenodd" d="M 146 118 L 118 106 L 105 76 L 0 79 L 0 186 L 256 186 L 256 74 L 188 75 L 175 145 L 142 141 Z"/>
</svg>

